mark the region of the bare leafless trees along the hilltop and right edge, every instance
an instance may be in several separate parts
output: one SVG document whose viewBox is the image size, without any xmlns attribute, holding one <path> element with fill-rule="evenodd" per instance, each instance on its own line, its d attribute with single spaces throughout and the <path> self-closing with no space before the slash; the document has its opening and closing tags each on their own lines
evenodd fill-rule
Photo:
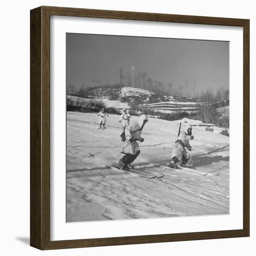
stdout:
<svg viewBox="0 0 256 256">
<path fill-rule="evenodd" d="M 215 93 L 211 89 L 201 92 L 196 91 L 196 83 L 184 81 L 184 84 L 174 85 L 168 83 L 165 85 L 162 81 L 154 80 L 148 76 L 146 72 L 140 72 L 132 77 L 129 73 L 124 73 L 120 67 L 119 83 L 102 84 L 100 79 L 93 79 L 91 85 L 82 84 L 80 88 L 76 88 L 74 84 L 67 85 L 67 94 L 76 95 L 86 98 L 90 95 L 90 91 L 97 89 L 97 95 L 101 96 L 101 92 L 108 89 L 107 94 L 112 99 L 117 99 L 118 90 L 120 87 L 132 87 L 146 89 L 156 94 L 171 95 L 176 97 L 193 97 L 200 99 L 201 104 L 201 119 L 208 123 L 219 123 L 222 126 L 229 127 L 229 89 L 218 89 Z"/>
</svg>

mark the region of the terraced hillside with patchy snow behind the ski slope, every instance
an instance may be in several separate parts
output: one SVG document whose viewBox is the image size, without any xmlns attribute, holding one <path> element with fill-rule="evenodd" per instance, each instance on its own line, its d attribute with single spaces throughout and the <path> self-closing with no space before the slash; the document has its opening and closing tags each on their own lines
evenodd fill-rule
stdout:
<svg viewBox="0 0 256 256">
<path fill-rule="evenodd" d="M 228 100 L 203 102 L 191 97 L 156 94 L 132 87 L 91 88 L 83 98 L 67 95 L 68 111 L 96 112 L 103 107 L 113 114 L 119 114 L 123 108 L 127 108 L 133 115 L 144 113 L 169 121 L 189 117 L 219 127 L 229 127 Z"/>
</svg>

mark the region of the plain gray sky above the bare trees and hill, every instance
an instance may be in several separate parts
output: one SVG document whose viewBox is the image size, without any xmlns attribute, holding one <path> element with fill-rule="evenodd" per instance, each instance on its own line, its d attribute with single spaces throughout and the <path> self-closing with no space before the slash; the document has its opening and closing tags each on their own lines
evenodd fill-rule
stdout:
<svg viewBox="0 0 256 256">
<path fill-rule="evenodd" d="M 201 92 L 229 88 L 229 42 L 67 33 L 67 84 L 118 83 L 124 74 L 146 72 L 153 80 Z"/>
</svg>

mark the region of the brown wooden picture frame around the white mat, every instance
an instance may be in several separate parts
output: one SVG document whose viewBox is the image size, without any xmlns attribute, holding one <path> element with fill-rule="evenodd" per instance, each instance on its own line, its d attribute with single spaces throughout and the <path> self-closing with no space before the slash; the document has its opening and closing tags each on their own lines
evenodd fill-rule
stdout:
<svg viewBox="0 0 256 256">
<path fill-rule="evenodd" d="M 243 229 L 65 241 L 50 240 L 51 15 L 243 27 Z M 38 7 L 31 10 L 30 19 L 31 246 L 38 249 L 66 249 L 249 236 L 249 20 L 66 7 Z"/>
</svg>

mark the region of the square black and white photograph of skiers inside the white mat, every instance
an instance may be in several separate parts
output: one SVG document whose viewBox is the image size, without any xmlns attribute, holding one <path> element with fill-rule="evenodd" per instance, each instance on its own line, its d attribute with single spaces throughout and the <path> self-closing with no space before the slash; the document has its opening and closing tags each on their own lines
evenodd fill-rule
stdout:
<svg viewBox="0 0 256 256">
<path fill-rule="evenodd" d="M 229 41 L 67 33 L 66 92 L 67 222 L 229 214 Z"/>
</svg>

